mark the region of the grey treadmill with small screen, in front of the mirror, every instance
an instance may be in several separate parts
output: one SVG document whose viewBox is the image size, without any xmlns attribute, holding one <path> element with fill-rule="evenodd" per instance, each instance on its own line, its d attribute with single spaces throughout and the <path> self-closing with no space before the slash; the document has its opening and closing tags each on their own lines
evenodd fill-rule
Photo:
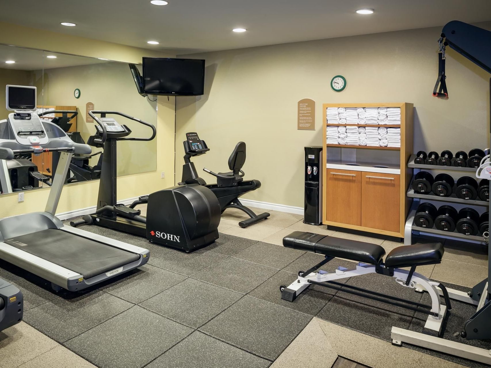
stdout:
<svg viewBox="0 0 491 368">
<path fill-rule="evenodd" d="M 91 148 L 73 142 L 56 124 L 41 122 L 32 112 L 36 87 L 7 85 L 6 99 L 14 112 L 0 123 L 0 162 L 23 153 L 60 157 L 45 210 L 0 220 L 0 259 L 51 281 L 56 291 L 82 290 L 147 263 L 147 249 L 65 226 L 55 216 L 72 155 L 90 154 Z M 107 129 L 100 129 L 104 143 Z"/>
</svg>

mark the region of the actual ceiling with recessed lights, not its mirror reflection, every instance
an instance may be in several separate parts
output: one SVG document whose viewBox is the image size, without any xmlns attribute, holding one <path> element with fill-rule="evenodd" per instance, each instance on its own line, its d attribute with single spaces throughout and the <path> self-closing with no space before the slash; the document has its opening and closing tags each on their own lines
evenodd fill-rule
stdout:
<svg viewBox="0 0 491 368">
<path fill-rule="evenodd" d="M 0 0 L 0 21 L 191 53 L 491 20 L 490 0 L 168 1 L 156 6 L 149 0 Z M 355 13 L 366 7 L 375 13 Z M 247 32 L 234 33 L 234 27 Z M 149 40 L 160 45 L 151 47 Z"/>
</svg>

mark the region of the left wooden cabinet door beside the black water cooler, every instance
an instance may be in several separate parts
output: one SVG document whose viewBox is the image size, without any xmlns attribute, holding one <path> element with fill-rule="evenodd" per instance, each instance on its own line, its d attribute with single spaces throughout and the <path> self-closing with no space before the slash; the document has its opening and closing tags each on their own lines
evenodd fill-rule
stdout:
<svg viewBox="0 0 491 368">
<path fill-rule="evenodd" d="M 361 171 L 327 169 L 327 221 L 361 224 L 361 174 Z"/>
</svg>

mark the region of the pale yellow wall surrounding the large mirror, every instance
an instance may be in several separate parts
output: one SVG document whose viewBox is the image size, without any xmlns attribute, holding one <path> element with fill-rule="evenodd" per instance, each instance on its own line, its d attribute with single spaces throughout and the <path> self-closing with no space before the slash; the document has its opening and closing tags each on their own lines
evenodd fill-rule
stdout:
<svg viewBox="0 0 491 368">
<path fill-rule="evenodd" d="M 5 23 L 0 23 L 0 27 L 1 29 L 9 29 L 8 32 L 0 32 L 0 43 L 13 46 L 102 57 L 132 63 L 141 62 L 142 56 L 174 56 Z M 135 99 L 141 99 L 141 97 L 135 95 Z M 118 178 L 118 199 L 148 194 L 174 183 L 175 100 L 171 97 L 170 101 L 167 101 L 166 97 L 160 97 L 157 106 L 157 171 Z M 161 179 L 161 171 L 165 171 L 165 179 Z M 98 185 L 99 181 L 65 185 L 57 212 L 95 206 Z M 49 188 L 26 191 L 23 203 L 17 203 L 17 193 L 2 194 L 0 196 L 0 217 L 44 210 L 48 193 Z"/>
</svg>

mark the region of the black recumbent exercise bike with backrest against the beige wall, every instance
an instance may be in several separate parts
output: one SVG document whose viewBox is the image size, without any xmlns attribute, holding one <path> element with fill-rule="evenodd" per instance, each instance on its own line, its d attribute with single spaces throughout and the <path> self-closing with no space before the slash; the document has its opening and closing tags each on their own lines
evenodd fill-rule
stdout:
<svg viewBox="0 0 491 368">
<path fill-rule="evenodd" d="M 206 168 L 203 169 L 203 171 L 217 178 L 217 184 L 206 184 L 196 172 L 196 167 L 191 162 L 191 157 L 201 156 L 210 151 L 210 149 L 204 140 L 199 139 L 198 133 L 186 133 L 186 138 L 187 140 L 183 142 L 184 152 L 186 153 L 184 155 L 183 176 L 179 184 L 199 184 L 211 189 L 213 194 L 218 198 L 221 213 L 227 208 L 236 208 L 246 212 L 250 218 L 239 222 L 241 228 L 246 228 L 270 216 L 269 212 L 263 212 L 257 215 L 239 201 L 239 197 L 243 194 L 261 187 L 259 180 L 244 181 L 245 174 L 242 171 L 242 166 L 246 162 L 246 143 L 237 143 L 228 158 L 230 172 L 217 174 Z"/>
</svg>

